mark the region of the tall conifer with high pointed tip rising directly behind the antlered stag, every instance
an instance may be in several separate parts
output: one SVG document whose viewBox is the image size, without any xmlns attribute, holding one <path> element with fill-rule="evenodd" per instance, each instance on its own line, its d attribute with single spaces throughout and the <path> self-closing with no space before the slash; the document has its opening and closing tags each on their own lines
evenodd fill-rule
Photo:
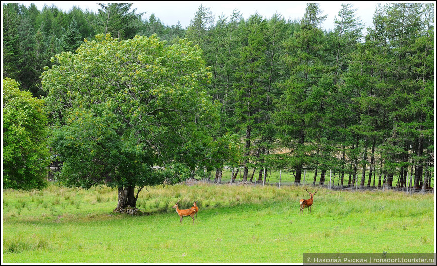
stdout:
<svg viewBox="0 0 437 266">
<path fill-rule="evenodd" d="M 285 43 L 288 53 L 285 62 L 289 67 L 290 77 L 280 84 L 284 93 L 276 104 L 282 107 L 274 114 L 275 124 L 281 132 L 282 145 L 292 151 L 290 156 L 293 158 L 289 162 L 296 168 L 296 183 L 300 183 L 302 166 L 312 163 L 308 154 L 314 154 L 315 151 L 311 150 L 317 147 L 305 145 L 305 142 L 320 141 L 323 100 L 326 87 L 331 85 L 324 85 L 321 78 L 326 63 L 323 60 L 325 38 L 319 24 L 326 16 L 319 16 L 321 11 L 318 4 L 314 3 L 307 4 L 305 11 L 301 30 L 295 32 Z"/>
</svg>

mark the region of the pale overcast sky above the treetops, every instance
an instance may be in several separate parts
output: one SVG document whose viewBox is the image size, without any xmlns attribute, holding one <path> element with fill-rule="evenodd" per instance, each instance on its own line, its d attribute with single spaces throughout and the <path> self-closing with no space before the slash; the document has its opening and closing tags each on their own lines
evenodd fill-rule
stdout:
<svg viewBox="0 0 437 266">
<path fill-rule="evenodd" d="M 341 3 L 352 3 L 354 8 L 357 8 L 356 14 L 363 21 L 366 29 L 372 26 L 372 17 L 377 3 L 384 5 L 388 2 L 393 1 L 320 1 L 318 3 L 323 12 L 322 14 L 327 15 L 322 28 L 325 30 L 333 29 L 334 17 L 338 16 Z M 26 7 L 29 7 L 30 3 L 35 3 L 39 10 L 42 10 L 45 4 L 48 6 L 54 4 L 66 12 L 74 5 L 80 7 L 82 10 L 89 9 L 95 12 L 97 12 L 100 7 L 97 4 L 98 2 L 94 1 L 23 1 L 21 3 Z M 131 1 L 130 3 L 134 3 L 133 8 L 136 8 L 138 13 L 146 12 L 146 14 L 143 15 L 143 19 L 149 18 L 149 16 L 154 13 L 165 25 L 176 25 L 178 21 L 180 21 L 182 28 L 185 28 L 188 27 L 190 20 L 193 19 L 200 4 L 203 4 L 204 7 L 209 7 L 215 15 L 215 18 L 221 13 L 229 17 L 232 11 L 237 9 L 245 19 L 257 11 L 264 18 L 270 18 L 275 12 L 278 12 L 288 20 L 302 18 L 308 1 Z"/>
</svg>

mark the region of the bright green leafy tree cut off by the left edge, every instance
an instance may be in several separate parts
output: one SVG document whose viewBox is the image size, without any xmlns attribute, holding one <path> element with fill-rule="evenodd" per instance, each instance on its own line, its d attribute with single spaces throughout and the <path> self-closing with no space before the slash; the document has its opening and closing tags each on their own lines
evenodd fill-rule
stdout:
<svg viewBox="0 0 437 266">
<path fill-rule="evenodd" d="M 3 80 L 3 187 L 42 189 L 49 165 L 43 101 Z"/>
</svg>

